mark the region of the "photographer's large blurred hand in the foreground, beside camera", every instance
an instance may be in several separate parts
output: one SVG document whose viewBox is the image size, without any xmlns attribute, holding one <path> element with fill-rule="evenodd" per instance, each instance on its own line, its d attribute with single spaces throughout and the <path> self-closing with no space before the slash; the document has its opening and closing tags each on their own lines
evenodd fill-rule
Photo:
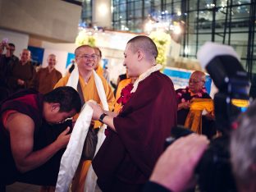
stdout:
<svg viewBox="0 0 256 192">
<path fill-rule="evenodd" d="M 190 187 L 194 168 L 207 149 L 208 139 L 203 135 L 189 135 L 178 139 L 162 153 L 150 181 L 171 191 L 184 191 Z"/>
</svg>

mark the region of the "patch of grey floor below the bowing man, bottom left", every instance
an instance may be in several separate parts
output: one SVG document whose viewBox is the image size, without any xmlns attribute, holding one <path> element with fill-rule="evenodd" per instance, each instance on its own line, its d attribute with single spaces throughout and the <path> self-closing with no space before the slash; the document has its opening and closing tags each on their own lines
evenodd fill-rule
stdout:
<svg viewBox="0 0 256 192">
<path fill-rule="evenodd" d="M 39 185 L 16 182 L 12 185 L 7 185 L 7 192 L 39 192 L 40 187 Z"/>
</svg>

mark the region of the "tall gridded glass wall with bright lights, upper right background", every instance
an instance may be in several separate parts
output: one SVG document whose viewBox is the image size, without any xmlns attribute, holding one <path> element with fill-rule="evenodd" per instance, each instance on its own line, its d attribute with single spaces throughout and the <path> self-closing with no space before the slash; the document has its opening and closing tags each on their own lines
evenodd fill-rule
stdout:
<svg viewBox="0 0 256 192">
<path fill-rule="evenodd" d="M 112 0 L 112 7 L 114 30 L 144 32 L 149 19 L 180 23 L 181 57 L 195 58 L 206 41 L 231 45 L 256 92 L 255 0 Z"/>
</svg>

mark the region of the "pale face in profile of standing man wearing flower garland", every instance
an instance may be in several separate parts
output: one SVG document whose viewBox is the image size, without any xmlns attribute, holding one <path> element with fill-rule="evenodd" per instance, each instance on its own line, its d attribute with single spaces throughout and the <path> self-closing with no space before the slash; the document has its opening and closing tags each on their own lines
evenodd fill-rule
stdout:
<svg viewBox="0 0 256 192">
<path fill-rule="evenodd" d="M 124 56 L 123 65 L 126 66 L 127 75 L 130 77 L 139 76 L 138 53 L 132 51 L 130 43 L 126 45 Z"/>
</svg>

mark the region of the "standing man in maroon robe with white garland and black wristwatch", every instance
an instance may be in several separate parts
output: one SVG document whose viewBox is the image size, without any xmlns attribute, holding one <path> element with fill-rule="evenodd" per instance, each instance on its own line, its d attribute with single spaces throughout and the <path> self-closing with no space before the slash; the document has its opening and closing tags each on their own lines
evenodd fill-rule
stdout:
<svg viewBox="0 0 256 192">
<path fill-rule="evenodd" d="M 130 39 L 124 66 L 139 76 L 120 114 L 115 117 L 94 103 L 94 119 L 107 124 L 106 139 L 93 160 L 103 191 L 141 191 L 176 126 L 176 93 L 167 75 L 155 65 L 158 50 L 149 37 Z"/>
</svg>

